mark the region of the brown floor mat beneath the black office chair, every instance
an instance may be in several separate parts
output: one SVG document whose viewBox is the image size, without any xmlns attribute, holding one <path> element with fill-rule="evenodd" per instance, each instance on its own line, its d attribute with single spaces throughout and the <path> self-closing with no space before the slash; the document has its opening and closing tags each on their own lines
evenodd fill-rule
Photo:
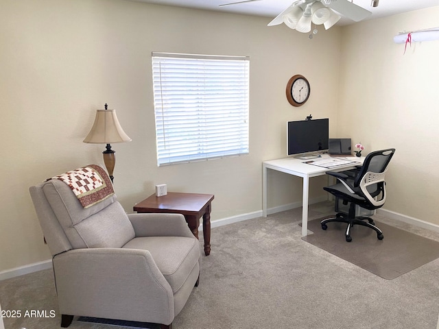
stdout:
<svg viewBox="0 0 439 329">
<path fill-rule="evenodd" d="M 327 217 L 326 217 L 327 218 Z M 347 260 L 381 278 L 392 280 L 439 257 L 439 242 L 375 221 L 383 231 L 383 240 L 365 226 L 351 228 L 352 242 L 344 239 L 345 223 L 328 223 L 322 230 L 320 221 L 308 222 L 313 234 L 302 240 Z"/>
</svg>

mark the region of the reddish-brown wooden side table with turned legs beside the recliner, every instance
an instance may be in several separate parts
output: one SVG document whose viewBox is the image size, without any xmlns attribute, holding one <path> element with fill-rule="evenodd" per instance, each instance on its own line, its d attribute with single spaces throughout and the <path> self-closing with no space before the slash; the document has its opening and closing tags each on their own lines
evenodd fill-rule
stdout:
<svg viewBox="0 0 439 329">
<path fill-rule="evenodd" d="M 156 197 L 150 195 L 133 207 L 137 212 L 167 212 L 182 214 L 193 235 L 198 239 L 198 226 L 203 217 L 204 254 L 211 254 L 211 202 L 212 194 L 173 193 Z"/>
</svg>

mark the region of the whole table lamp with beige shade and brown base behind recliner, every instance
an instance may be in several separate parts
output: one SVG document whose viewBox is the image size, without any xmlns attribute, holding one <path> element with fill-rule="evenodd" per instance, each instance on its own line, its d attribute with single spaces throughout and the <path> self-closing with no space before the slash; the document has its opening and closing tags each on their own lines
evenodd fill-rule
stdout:
<svg viewBox="0 0 439 329">
<path fill-rule="evenodd" d="M 93 123 L 93 127 L 84 139 L 84 143 L 107 145 L 102 154 L 104 154 L 104 163 L 111 182 L 114 178 L 112 171 L 115 169 L 116 158 L 115 151 L 111 149 L 110 143 L 129 141 L 131 141 L 131 138 L 123 131 L 119 120 L 117 120 L 116 110 L 108 110 L 107 104 L 105 104 L 105 110 L 96 111 L 95 123 Z"/>
</svg>

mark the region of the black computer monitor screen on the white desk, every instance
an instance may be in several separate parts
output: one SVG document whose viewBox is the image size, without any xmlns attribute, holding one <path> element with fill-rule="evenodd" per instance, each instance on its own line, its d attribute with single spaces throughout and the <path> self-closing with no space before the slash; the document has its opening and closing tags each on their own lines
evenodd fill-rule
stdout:
<svg viewBox="0 0 439 329">
<path fill-rule="evenodd" d="M 323 151 L 329 148 L 329 119 L 289 121 L 287 154 Z"/>
</svg>

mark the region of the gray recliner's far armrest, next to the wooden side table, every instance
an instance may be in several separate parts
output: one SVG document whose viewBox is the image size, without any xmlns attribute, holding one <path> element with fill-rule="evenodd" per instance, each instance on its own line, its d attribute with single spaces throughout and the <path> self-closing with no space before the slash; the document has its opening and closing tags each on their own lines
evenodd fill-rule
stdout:
<svg viewBox="0 0 439 329">
<path fill-rule="evenodd" d="M 128 214 L 136 236 L 187 236 L 193 234 L 180 214 Z"/>
</svg>

